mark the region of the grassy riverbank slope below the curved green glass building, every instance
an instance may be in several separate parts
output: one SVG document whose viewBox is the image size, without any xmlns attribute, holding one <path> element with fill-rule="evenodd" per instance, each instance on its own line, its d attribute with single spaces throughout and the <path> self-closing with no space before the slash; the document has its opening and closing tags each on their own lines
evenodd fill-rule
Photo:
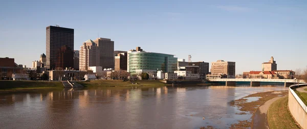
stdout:
<svg viewBox="0 0 307 129">
<path fill-rule="evenodd" d="M 90 82 L 77 82 L 84 87 L 129 87 L 129 86 L 165 86 L 166 84 L 159 80 L 92 80 Z"/>
</svg>

